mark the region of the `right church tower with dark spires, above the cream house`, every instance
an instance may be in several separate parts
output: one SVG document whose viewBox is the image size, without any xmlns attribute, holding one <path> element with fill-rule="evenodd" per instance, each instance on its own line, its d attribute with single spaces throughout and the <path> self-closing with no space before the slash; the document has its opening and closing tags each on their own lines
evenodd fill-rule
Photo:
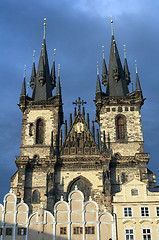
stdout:
<svg viewBox="0 0 159 240">
<path fill-rule="evenodd" d="M 96 121 L 100 126 L 101 147 L 106 146 L 111 154 L 110 174 L 111 193 L 120 191 L 121 184 L 137 178 L 155 186 L 155 176 L 147 169 L 149 154 L 144 152 L 144 142 L 141 124 L 141 107 L 144 98 L 136 65 L 136 89 L 129 92 L 130 72 L 124 56 L 124 67 L 113 31 L 107 70 L 103 50 L 102 84 L 106 91 L 102 92 L 100 80 L 96 89 Z"/>
</svg>

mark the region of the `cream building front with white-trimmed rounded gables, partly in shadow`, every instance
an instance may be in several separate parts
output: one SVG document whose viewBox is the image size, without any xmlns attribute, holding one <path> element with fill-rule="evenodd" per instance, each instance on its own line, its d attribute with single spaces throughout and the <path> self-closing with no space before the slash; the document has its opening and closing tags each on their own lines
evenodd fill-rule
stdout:
<svg viewBox="0 0 159 240">
<path fill-rule="evenodd" d="M 54 216 L 39 205 L 38 211 L 28 217 L 29 208 L 10 191 L 0 204 L 1 240 L 110 240 L 114 239 L 113 217 L 106 210 L 99 215 L 96 202 L 84 202 L 77 188 L 68 196 L 68 203 L 61 198 L 54 206 Z"/>
</svg>

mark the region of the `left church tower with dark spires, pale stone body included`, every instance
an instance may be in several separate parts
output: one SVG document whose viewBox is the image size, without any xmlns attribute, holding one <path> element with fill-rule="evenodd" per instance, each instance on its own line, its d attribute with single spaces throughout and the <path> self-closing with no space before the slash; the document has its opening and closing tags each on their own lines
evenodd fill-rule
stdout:
<svg viewBox="0 0 159 240">
<path fill-rule="evenodd" d="M 16 156 L 18 171 L 13 175 L 11 187 L 33 210 L 43 202 L 45 208 L 54 204 L 54 166 L 59 154 L 59 133 L 63 123 L 60 68 L 56 84 L 55 53 L 50 74 L 46 39 L 42 43 L 41 55 L 36 72 L 35 55 L 30 86 L 32 97 L 26 94 L 26 80 L 20 95 L 19 108 L 22 111 L 22 134 L 20 156 Z M 25 73 L 25 72 L 24 72 Z M 56 86 L 56 92 L 52 90 Z"/>
</svg>

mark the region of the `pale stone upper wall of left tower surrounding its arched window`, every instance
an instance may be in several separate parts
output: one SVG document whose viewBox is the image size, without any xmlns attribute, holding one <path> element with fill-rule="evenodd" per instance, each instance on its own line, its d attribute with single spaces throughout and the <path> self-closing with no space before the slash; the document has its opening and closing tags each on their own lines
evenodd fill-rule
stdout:
<svg viewBox="0 0 159 240">
<path fill-rule="evenodd" d="M 36 144 L 36 121 L 41 118 L 44 121 L 44 143 Z M 32 126 L 30 127 L 30 124 Z M 26 109 L 22 119 L 21 155 L 33 158 L 38 154 L 40 158 L 49 155 L 51 147 L 51 132 L 53 131 L 54 147 L 58 133 L 58 108 L 47 107 L 41 109 Z"/>
</svg>

